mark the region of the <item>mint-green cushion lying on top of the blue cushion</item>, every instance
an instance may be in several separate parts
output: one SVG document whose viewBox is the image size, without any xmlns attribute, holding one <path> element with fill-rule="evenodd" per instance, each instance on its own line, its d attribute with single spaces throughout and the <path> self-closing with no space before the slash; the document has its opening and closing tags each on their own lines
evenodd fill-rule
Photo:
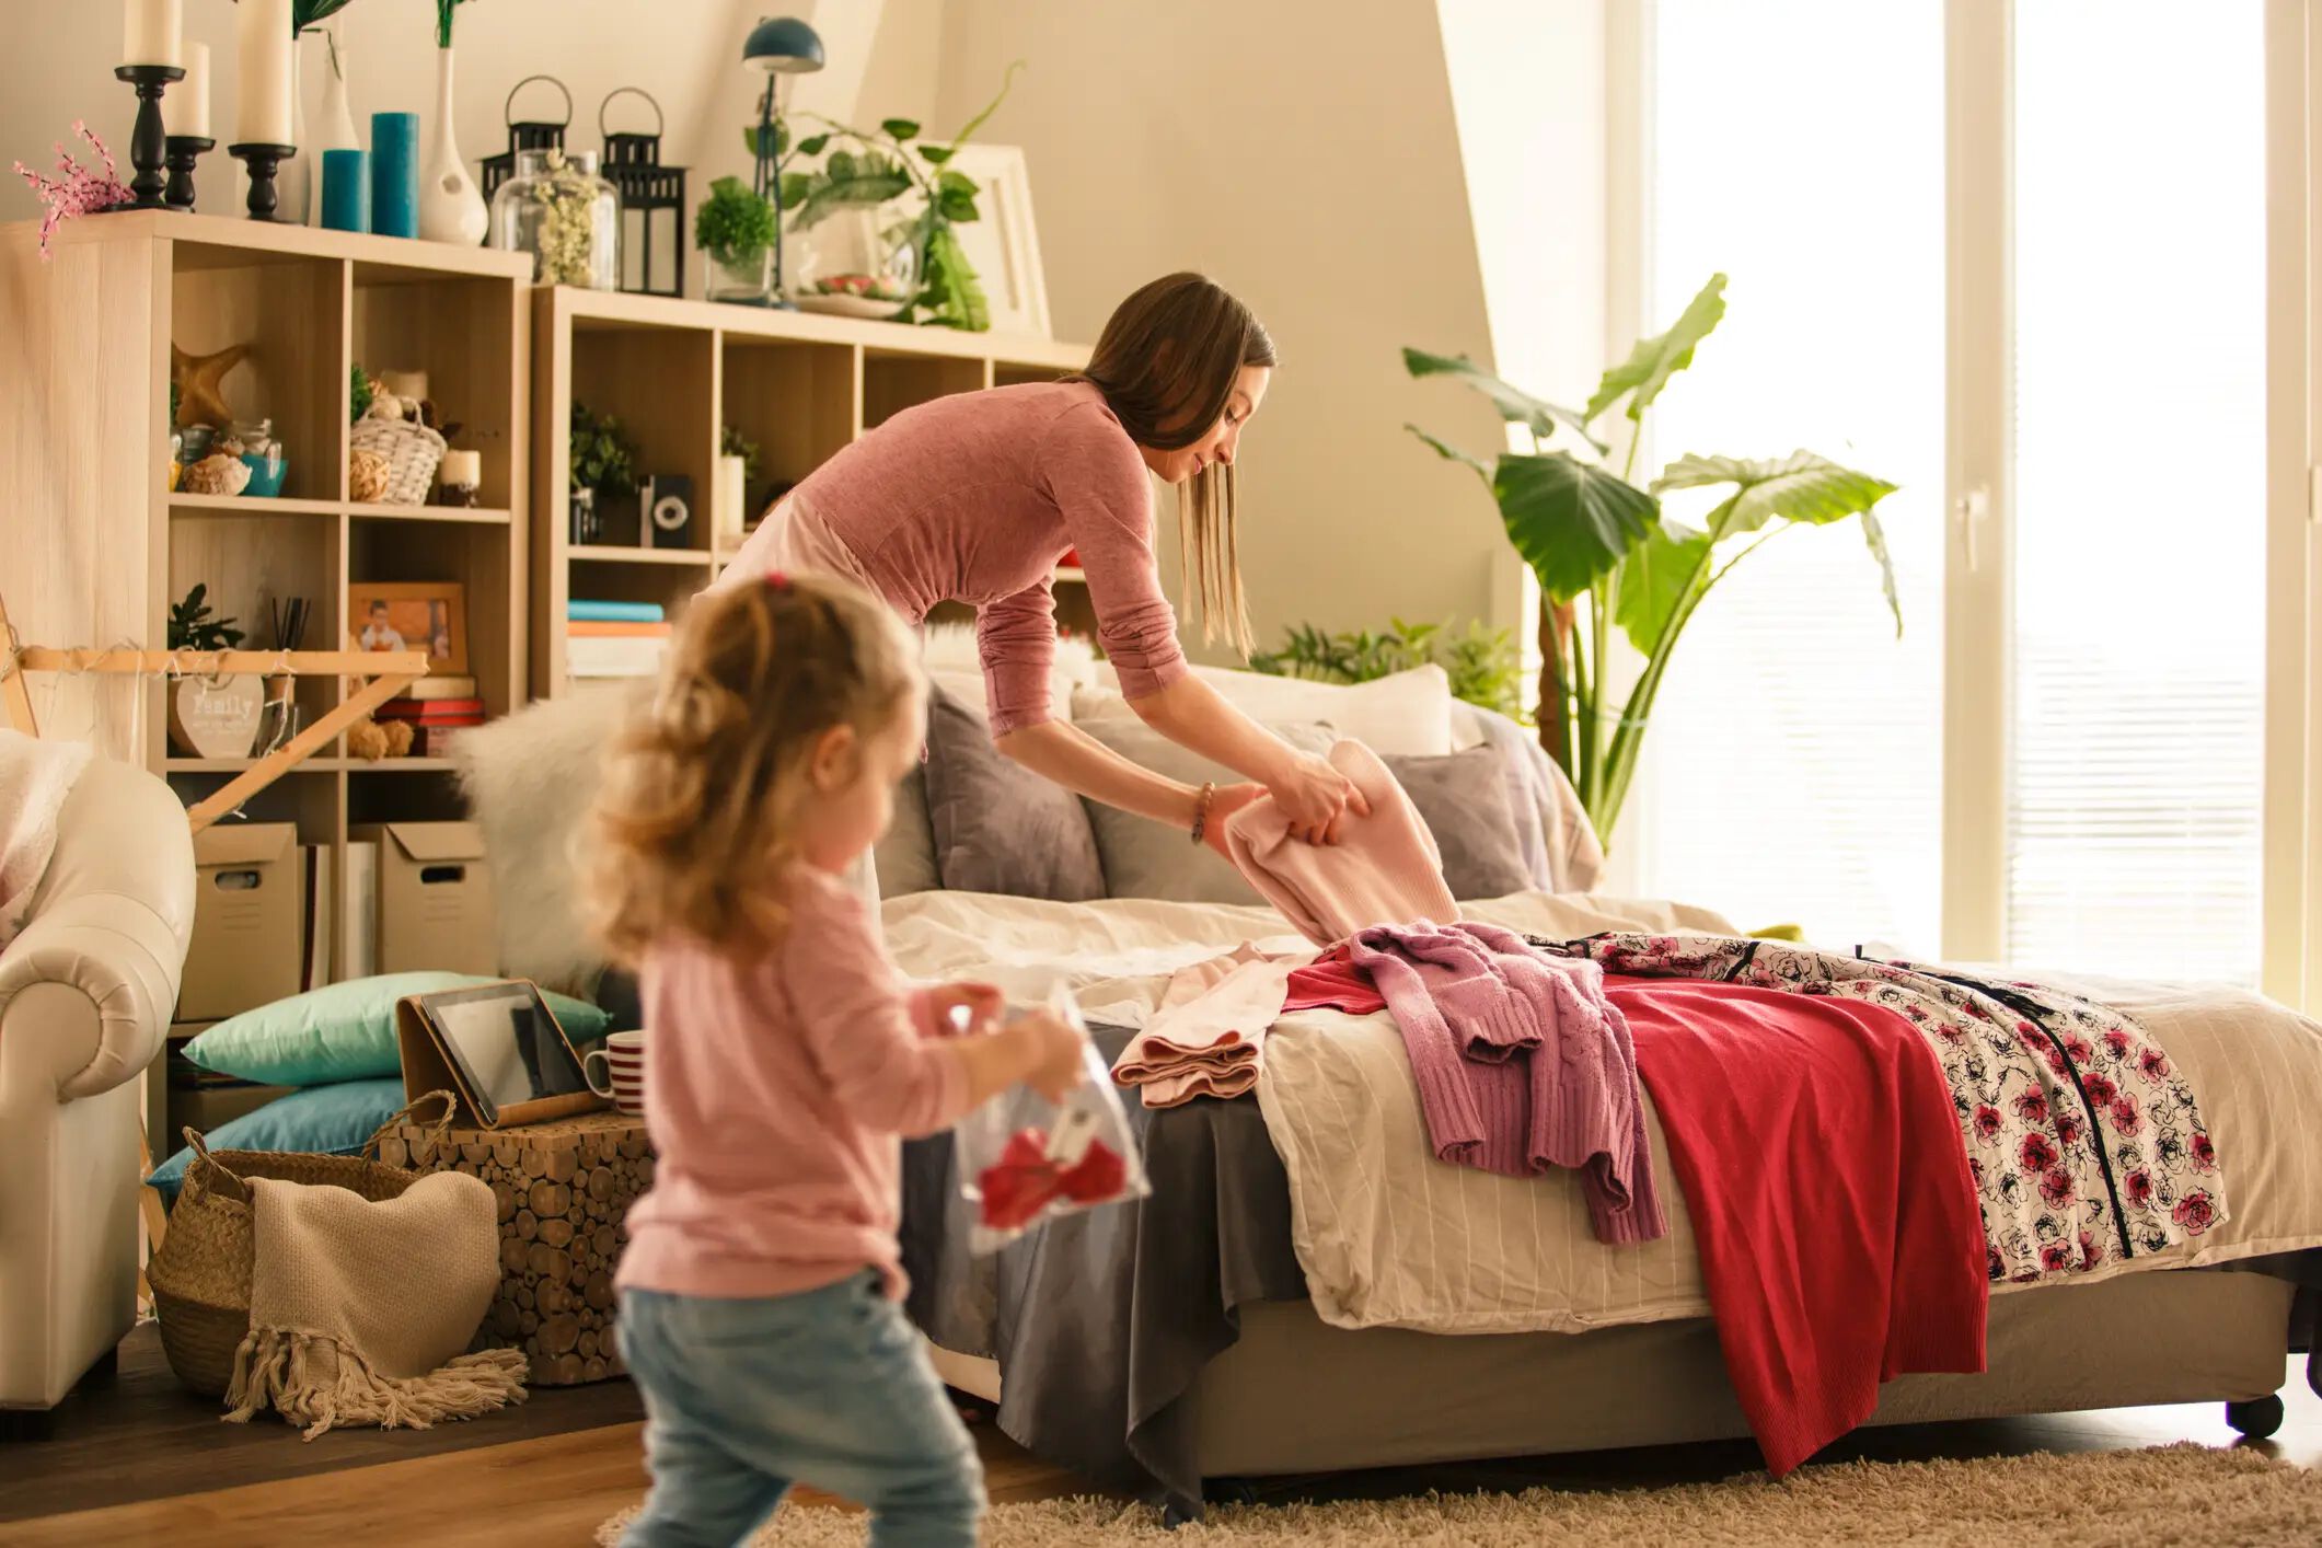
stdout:
<svg viewBox="0 0 2322 1548">
<path fill-rule="evenodd" d="M 260 1086 L 327 1086 L 402 1075 L 395 1049 L 395 1003 L 411 993 L 474 989 L 495 979 L 469 972 L 388 972 L 295 993 L 218 1021 L 186 1044 L 193 1063 Z M 606 1014 L 585 1000 L 550 993 L 564 1035 L 576 1044 L 604 1037 Z"/>
</svg>

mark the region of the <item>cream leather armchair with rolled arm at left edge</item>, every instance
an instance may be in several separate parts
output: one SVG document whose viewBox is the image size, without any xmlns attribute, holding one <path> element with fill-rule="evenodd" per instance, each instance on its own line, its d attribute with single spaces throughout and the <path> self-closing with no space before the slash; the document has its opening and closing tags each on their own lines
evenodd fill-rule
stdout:
<svg viewBox="0 0 2322 1548">
<path fill-rule="evenodd" d="M 186 808 L 139 768 L 91 761 L 0 952 L 0 1430 L 53 1409 L 137 1321 L 135 1077 L 167 1035 L 190 933 Z"/>
</svg>

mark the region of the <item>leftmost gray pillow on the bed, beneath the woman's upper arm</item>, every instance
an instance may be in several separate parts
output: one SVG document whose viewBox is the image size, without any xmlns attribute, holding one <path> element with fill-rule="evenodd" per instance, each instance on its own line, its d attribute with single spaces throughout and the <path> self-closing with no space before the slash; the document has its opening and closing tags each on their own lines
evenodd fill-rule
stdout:
<svg viewBox="0 0 2322 1548">
<path fill-rule="evenodd" d="M 982 712 L 943 687 L 926 701 L 926 817 L 936 873 L 952 891 L 1105 896 L 1080 796 L 1001 757 Z"/>
</svg>

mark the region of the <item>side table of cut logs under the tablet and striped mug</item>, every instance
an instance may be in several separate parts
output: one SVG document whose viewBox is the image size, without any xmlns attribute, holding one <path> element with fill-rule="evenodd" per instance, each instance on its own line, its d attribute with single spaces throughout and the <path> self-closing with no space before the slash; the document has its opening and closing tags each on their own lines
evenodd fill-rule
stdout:
<svg viewBox="0 0 2322 1548">
<path fill-rule="evenodd" d="M 378 1158 L 413 1172 L 460 1170 L 499 1205 L 499 1295 L 490 1328 L 532 1358 L 534 1386 L 622 1376 L 613 1344 L 613 1267 L 629 1205 L 652 1184 L 646 1121 L 592 1112 L 520 1128 L 404 1123 Z"/>
</svg>

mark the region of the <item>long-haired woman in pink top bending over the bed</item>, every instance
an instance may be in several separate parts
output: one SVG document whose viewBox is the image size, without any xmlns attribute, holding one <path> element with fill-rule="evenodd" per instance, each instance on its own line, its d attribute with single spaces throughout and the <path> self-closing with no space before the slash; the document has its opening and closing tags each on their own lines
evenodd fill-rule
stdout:
<svg viewBox="0 0 2322 1548">
<path fill-rule="evenodd" d="M 1087 371 L 940 397 L 848 446 L 783 497 L 717 585 L 773 569 L 838 573 L 910 624 L 938 601 L 971 603 L 991 736 L 1017 764 L 1219 852 L 1226 817 L 1263 794 L 1298 836 L 1337 842 L 1363 796 L 1187 668 L 1154 566 L 1147 473 L 1177 485 L 1203 641 L 1221 631 L 1249 650 L 1233 460 L 1272 367 L 1272 339 L 1224 288 L 1200 274 L 1156 279 L 1115 309 Z M 1050 587 L 1066 550 L 1080 550 L 1128 706 L 1249 784 L 1191 789 L 1054 717 Z"/>
</svg>

